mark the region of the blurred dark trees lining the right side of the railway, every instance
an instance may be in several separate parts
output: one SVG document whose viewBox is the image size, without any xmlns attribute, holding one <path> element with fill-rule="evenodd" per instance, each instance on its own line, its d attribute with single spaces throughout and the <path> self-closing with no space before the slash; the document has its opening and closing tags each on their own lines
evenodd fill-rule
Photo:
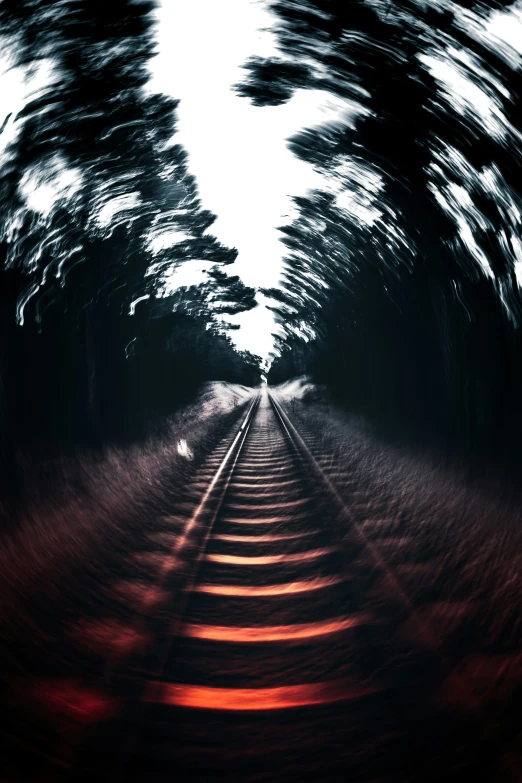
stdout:
<svg viewBox="0 0 522 783">
<path fill-rule="evenodd" d="M 238 89 L 349 106 L 290 141 L 328 185 L 281 229 L 270 380 L 309 372 L 382 431 L 520 466 L 522 72 L 485 33 L 507 5 L 274 2 L 280 58 Z"/>
</svg>

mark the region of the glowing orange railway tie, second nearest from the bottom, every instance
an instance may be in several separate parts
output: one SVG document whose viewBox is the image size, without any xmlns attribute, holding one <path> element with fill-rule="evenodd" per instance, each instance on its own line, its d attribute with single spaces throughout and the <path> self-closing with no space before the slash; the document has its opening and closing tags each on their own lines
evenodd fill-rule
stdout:
<svg viewBox="0 0 522 783">
<path fill-rule="evenodd" d="M 214 642 L 238 642 L 252 644 L 256 642 L 282 642 L 288 639 L 311 639 L 339 633 L 359 625 L 367 625 L 373 620 L 370 614 L 354 614 L 350 617 L 335 617 L 316 623 L 298 623 L 296 625 L 261 625 L 241 628 L 235 625 L 196 625 L 187 623 L 183 636 L 191 639 L 209 639 Z"/>
</svg>

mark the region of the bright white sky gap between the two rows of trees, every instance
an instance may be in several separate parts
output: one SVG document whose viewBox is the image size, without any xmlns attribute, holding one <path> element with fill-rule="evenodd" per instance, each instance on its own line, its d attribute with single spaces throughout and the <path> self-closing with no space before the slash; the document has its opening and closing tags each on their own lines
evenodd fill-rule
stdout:
<svg viewBox="0 0 522 783">
<path fill-rule="evenodd" d="M 275 52 L 266 0 L 164 0 L 157 16 L 151 87 L 181 100 L 176 141 L 189 153 L 203 206 L 218 217 L 211 232 L 239 251 L 231 273 L 247 285 L 277 285 L 284 252 L 277 227 L 290 222 L 291 196 L 322 182 L 286 140 L 348 107 L 305 90 L 285 105 L 255 107 L 231 89 L 248 57 Z M 192 274 L 187 266 L 176 282 Z M 274 321 L 259 299 L 255 310 L 231 319 L 241 324 L 232 334 L 240 348 L 265 357 Z"/>
</svg>

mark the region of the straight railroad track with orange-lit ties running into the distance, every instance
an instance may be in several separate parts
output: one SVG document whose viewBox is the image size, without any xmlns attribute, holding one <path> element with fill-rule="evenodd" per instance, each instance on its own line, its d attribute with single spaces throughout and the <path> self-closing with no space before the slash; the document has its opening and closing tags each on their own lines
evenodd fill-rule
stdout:
<svg viewBox="0 0 522 783">
<path fill-rule="evenodd" d="M 480 729 L 437 704 L 439 639 L 266 390 L 194 494 L 135 555 L 144 643 L 105 661 L 123 706 L 60 781 L 488 779 Z"/>
</svg>

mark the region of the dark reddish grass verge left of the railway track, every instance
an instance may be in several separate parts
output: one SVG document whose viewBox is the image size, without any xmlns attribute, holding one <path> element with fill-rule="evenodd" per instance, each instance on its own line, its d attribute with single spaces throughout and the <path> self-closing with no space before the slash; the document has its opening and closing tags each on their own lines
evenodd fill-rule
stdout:
<svg viewBox="0 0 522 783">
<path fill-rule="evenodd" d="M 37 616 L 35 592 L 52 600 L 74 591 L 79 586 L 70 579 L 78 563 L 103 569 L 105 559 L 125 550 L 151 519 L 174 513 L 189 477 L 241 416 L 250 393 L 209 384 L 193 405 L 165 422 L 161 437 L 106 448 L 102 455 L 29 463 L 23 511 L 1 536 L 2 635 L 21 614 Z"/>
</svg>

